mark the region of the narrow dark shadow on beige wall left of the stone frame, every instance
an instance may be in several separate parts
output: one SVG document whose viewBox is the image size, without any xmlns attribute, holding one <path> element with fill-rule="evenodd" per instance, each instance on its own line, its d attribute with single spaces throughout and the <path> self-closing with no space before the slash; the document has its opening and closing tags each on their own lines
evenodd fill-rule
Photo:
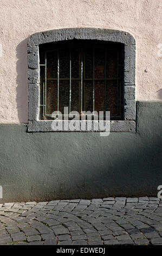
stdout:
<svg viewBox="0 0 162 256">
<path fill-rule="evenodd" d="M 28 122 L 28 66 L 27 66 L 27 41 L 20 42 L 16 47 L 16 103 L 18 120 L 20 123 Z"/>
</svg>

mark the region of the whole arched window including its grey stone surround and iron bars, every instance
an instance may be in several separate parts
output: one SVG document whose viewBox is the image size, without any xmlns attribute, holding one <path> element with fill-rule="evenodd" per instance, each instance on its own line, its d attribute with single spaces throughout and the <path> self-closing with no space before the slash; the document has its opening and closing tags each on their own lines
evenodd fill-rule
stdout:
<svg viewBox="0 0 162 256">
<path fill-rule="evenodd" d="M 53 131 L 51 113 L 110 111 L 111 131 L 135 131 L 135 39 L 67 28 L 28 40 L 28 132 Z"/>
</svg>

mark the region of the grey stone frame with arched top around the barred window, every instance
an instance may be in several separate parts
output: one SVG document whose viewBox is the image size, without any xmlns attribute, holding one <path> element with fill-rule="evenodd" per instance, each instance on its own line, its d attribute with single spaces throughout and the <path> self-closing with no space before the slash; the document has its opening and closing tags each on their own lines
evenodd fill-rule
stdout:
<svg viewBox="0 0 162 256">
<path fill-rule="evenodd" d="M 112 132 L 135 132 L 135 39 L 124 31 L 101 28 L 65 28 L 39 32 L 28 40 L 28 132 L 54 132 L 53 120 L 40 120 L 39 45 L 72 39 L 124 44 L 124 120 L 111 120 Z M 81 121 L 80 121 L 81 122 Z M 82 131 L 81 131 L 82 132 Z"/>
</svg>

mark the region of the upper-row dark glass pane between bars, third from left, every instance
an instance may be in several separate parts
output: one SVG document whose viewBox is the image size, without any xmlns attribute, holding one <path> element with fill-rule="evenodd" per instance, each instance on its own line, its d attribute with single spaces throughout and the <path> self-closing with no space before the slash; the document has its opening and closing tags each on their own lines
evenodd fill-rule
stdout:
<svg viewBox="0 0 162 256">
<path fill-rule="evenodd" d="M 72 78 L 80 78 L 80 49 L 72 48 L 71 50 Z"/>
</svg>

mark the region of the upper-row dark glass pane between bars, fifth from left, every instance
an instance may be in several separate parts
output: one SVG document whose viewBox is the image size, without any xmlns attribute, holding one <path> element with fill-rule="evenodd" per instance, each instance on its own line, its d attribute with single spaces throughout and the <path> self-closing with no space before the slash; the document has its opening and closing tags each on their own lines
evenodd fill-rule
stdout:
<svg viewBox="0 0 162 256">
<path fill-rule="evenodd" d="M 105 78 L 105 50 L 95 48 L 94 54 L 94 78 Z"/>
</svg>

